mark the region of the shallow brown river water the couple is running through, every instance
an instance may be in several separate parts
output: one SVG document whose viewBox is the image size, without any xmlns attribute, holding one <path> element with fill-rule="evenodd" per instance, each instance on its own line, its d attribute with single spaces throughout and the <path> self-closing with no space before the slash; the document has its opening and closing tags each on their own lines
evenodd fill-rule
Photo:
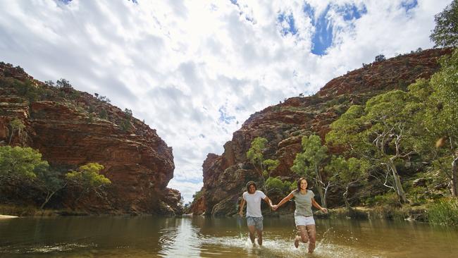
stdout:
<svg viewBox="0 0 458 258">
<path fill-rule="evenodd" d="M 252 247 L 236 219 L 59 217 L 0 220 L 0 257 L 455 257 L 458 229 L 394 221 L 316 220 L 317 245 L 296 249 L 292 218 L 264 219 Z"/>
</svg>

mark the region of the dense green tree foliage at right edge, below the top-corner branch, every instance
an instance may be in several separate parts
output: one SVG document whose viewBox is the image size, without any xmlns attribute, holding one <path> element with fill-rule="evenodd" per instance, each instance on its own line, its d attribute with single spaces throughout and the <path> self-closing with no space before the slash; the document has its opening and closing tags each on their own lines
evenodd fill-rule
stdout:
<svg viewBox="0 0 458 258">
<path fill-rule="evenodd" d="M 419 80 L 409 86 L 409 94 L 416 99 L 411 106 L 414 118 L 414 140 L 412 145 L 452 180 L 451 190 L 458 195 L 458 51 L 440 59 L 441 69 L 431 80 Z"/>
</svg>

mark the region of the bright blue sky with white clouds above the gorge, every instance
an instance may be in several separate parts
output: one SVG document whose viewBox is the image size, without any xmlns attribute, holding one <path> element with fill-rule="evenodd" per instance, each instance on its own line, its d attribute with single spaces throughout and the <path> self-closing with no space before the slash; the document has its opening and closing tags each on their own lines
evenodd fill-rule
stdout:
<svg viewBox="0 0 458 258">
<path fill-rule="evenodd" d="M 185 202 L 251 113 L 433 46 L 450 0 L 0 0 L 0 61 L 70 80 L 155 128 Z"/>
</svg>

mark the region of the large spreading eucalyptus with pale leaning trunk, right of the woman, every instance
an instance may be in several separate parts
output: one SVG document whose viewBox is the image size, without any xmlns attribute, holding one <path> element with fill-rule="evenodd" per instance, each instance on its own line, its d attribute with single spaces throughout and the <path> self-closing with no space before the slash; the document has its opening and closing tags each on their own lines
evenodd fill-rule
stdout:
<svg viewBox="0 0 458 258">
<path fill-rule="evenodd" d="M 401 90 L 379 94 L 365 106 L 351 106 L 326 135 L 328 144 L 346 146 L 352 156 L 383 165 L 383 185 L 395 190 L 402 203 L 407 197 L 395 161 L 414 154 L 409 140 L 414 119 L 411 109 L 405 109 L 409 102 L 410 94 Z"/>
</svg>

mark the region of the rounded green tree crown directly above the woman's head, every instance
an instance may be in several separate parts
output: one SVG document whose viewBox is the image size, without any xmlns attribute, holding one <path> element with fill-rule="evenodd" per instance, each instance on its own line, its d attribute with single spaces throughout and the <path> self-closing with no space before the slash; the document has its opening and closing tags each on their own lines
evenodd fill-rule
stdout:
<svg viewBox="0 0 458 258">
<path fill-rule="evenodd" d="M 310 135 L 302 137 L 302 150 L 296 155 L 291 170 L 301 177 L 315 178 L 323 160 L 328 156 L 328 147 L 321 145 L 318 135 Z"/>
</svg>

